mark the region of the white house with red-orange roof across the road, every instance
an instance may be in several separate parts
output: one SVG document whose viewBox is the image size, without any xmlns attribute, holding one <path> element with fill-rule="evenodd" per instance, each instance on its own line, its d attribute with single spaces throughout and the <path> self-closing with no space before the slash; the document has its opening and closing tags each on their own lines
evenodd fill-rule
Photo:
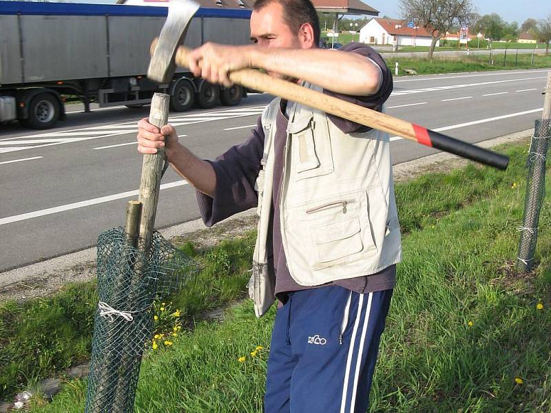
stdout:
<svg viewBox="0 0 551 413">
<path fill-rule="evenodd" d="M 413 27 L 412 27 L 413 26 Z M 360 42 L 376 45 L 430 46 L 433 41 L 422 27 L 397 19 L 371 19 L 360 29 Z M 440 41 L 437 41 L 437 46 Z"/>
</svg>

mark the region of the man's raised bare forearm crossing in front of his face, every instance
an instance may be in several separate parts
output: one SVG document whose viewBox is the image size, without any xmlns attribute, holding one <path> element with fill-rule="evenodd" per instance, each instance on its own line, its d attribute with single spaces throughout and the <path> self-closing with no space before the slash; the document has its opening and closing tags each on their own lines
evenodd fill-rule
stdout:
<svg viewBox="0 0 551 413">
<path fill-rule="evenodd" d="M 251 63 L 269 72 L 315 83 L 341 94 L 368 96 L 380 85 L 380 68 L 365 56 L 325 49 L 251 47 Z"/>
</svg>

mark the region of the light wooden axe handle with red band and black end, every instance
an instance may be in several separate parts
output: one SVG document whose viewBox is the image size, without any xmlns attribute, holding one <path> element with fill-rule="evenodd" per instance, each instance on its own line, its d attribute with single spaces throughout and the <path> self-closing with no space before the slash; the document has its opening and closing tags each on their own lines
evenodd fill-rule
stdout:
<svg viewBox="0 0 551 413">
<path fill-rule="evenodd" d="M 187 54 L 189 49 L 184 46 L 176 50 L 176 65 L 187 67 Z M 499 153 L 488 151 L 470 143 L 451 138 L 444 134 L 431 131 L 425 127 L 415 125 L 407 120 L 395 118 L 387 114 L 382 114 L 366 107 L 361 107 L 346 100 L 341 100 L 333 96 L 316 92 L 295 83 L 273 78 L 267 74 L 253 69 L 241 69 L 231 72 L 229 79 L 233 83 L 245 86 L 249 89 L 266 92 L 275 96 L 280 96 L 292 102 L 298 102 L 302 105 L 313 107 L 322 112 L 352 120 L 360 125 L 379 129 L 389 134 L 402 136 L 428 147 L 434 147 L 454 155 L 461 156 L 470 160 L 481 162 L 484 165 L 498 169 L 506 169 L 509 158 Z"/>
</svg>

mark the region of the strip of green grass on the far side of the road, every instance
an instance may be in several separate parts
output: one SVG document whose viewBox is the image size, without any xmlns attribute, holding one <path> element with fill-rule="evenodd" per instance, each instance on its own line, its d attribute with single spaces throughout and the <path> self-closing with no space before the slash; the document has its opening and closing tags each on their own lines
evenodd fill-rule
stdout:
<svg viewBox="0 0 551 413">
<path fill-rule="evenodd" d="M 382 54 L 383 57 L 384 54 Z M 515 54 L 495 54 L 494 64 L 488 65 L 488 56 L 448 56 L 447 59 L 433 59 L 430 61 L 423 59 L 402 59 L 385 58 L 386 65 L 394 74 L 395 63 L 398 62 L 398 76 L 407 75 L 404 69 L 413 69 L 417 74 L 439 74 L 439 73 L 457 73 L 457 72 L 485 72 L 489 70 L 506 69 L 537 69 L 551 67 L 551 55 L 535 55 L 534 62 L 531 61 L 530 54 L 519 54 L 518 59 Z"/>
</svg>

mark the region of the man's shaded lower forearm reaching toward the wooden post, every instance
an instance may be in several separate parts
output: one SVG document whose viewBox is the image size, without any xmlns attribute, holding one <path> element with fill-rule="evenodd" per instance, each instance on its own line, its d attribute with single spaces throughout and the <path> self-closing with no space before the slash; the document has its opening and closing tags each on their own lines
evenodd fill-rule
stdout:
<svg viewBox="0 0 551 413">
<path fill-rule="evenodd" d="M 198 191 L 214 198 L 216 189 L 216 172 L 209 162 L 195 156 L 189 149 L 179 143 L 167 148 L 170 165 L 176 169 L 187 182 Z"/>
</svg>

